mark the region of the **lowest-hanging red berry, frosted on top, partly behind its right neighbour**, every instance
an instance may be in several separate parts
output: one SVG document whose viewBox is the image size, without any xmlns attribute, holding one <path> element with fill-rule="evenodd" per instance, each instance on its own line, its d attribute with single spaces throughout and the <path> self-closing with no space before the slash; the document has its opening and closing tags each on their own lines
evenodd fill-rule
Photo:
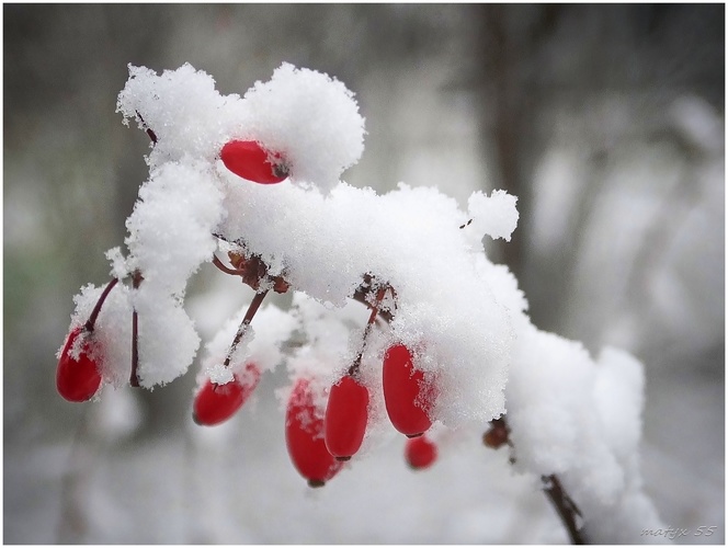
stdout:
<svg viewBox="0 0 728 548">
<path fill-rule="evenodd" d="M 308 379 L 298 379 L 286 409 L 286 447 L 296 470 L 310 487 L 321 487 L 341 469 L 323 442 L 323 419 L 318 413 Z"/>
</svg>

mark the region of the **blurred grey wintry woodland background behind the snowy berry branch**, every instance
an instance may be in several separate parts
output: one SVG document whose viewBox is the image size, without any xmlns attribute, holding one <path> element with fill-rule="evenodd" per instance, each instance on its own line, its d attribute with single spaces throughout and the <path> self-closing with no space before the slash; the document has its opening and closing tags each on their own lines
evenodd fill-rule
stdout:
<svg viewBox="0 0 728 548">
<path fill-rule="evenodd" d="M 281 62 L 356 93 L 386 192 L 517 195 L 516 274 L 536 326 L 633 352 L 641 466 L 667 525 L 725 543 L 723 4 L 4 4 L 3 524 L 9 544 L 564 543 L 504 452 L 462 441 L 413 473 L 393 439 L 311 491 L 287 461 L 266 377 L 228 424 L 191 421 L 197 366 L 153 392 L 70 404 L 55 353 L 72 296 L 147 178 L 115 113 L 127 64 L 190 62 L 244 93 Z M 203 339 L 251 294 L 203 269 Z"/>
</svg>

